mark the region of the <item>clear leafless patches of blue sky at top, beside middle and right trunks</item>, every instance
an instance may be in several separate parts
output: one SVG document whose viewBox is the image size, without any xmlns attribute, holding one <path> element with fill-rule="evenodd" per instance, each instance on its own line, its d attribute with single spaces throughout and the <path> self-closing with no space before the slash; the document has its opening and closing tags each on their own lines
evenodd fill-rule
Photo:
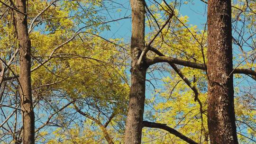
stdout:
<svg viewBox="0 0 256 144">
<path fill-rule="evenodd" d="M 160 0 L 159 0 L 160 1 Z M 131 14 L 131 9 L 129 5 L 129 0 L 116 0 L 116 2 L 123 5 L 116 9 L 112 9 L 106 14 L 108 20 L 118 19 L 122 17 L 127 17 Z M 183 0 L 184 2 L 184 0 Z M 146 0 L 146 3 L 149 5 L 150 1 Z M 204 27 L 207 17 L 207 5 L 200 0 L 192 0 L 188 4 L 183 4 L 179 9 L 180 13 L 183 16 L 187 15 L 189 17 L 188 24 L 197 25 L 199 29 Z M 121 9 L 121 11 L 118 11 Z M 111 17 L 109 16 L 111 15 Z M 110 24 L 110 31 L 104 31 L 101 36 L 106 38 L 124 38 L 125 41 L 130 41 L 131 36 L 131 19 L 123 19 L 117 22 L 112 22 Z M 146 28 L 146 32 L 149 31 Z"/>
</svg>

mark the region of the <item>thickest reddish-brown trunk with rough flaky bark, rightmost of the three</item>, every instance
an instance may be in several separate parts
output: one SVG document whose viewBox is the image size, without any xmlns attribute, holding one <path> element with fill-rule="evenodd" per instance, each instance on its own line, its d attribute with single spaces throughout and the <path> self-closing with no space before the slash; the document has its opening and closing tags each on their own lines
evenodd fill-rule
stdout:
<svg viewBox="0 0 256 144">
<path fill-rule="evenodd" d="M 232 72 L 231 0 L 208 0 L 208 128 L 211 144 L 238 144 Z"/>
</svg>

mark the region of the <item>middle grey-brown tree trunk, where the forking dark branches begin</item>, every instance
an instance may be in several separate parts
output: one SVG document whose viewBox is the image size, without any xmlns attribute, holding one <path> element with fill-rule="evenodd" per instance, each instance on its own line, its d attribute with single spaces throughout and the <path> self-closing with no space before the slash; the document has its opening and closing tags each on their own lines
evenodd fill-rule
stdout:
<svg viewBox="0 0 256 144">
<path fill-rule="evenodd" d="M 146 64 L 143 60 L 141 65 L 137 65 L 137 61 L 145 48 L 145 1 L 130 0 L 130 4 L 132 9 L 132 64 L 125 144 L 140 144 L 145 101 Z"/>
</svg>

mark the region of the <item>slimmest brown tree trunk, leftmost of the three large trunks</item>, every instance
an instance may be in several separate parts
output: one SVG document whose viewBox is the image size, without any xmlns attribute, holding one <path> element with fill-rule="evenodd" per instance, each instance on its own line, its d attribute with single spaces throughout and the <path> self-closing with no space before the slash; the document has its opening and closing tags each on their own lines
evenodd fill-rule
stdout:
<svg viewBox="0 0 256 144">
<path fill-rule="evenodd" d="M 26 0 L 16 0 L 19 11 L 27 13 Z M 31 43 L 27 33 L 27 15 L 16 11 L 16 30 L 19 42 L 19 95 L 23 120 L 23 144 L 35 144 L 35 116 L 31 93 Z"/>
</svg>

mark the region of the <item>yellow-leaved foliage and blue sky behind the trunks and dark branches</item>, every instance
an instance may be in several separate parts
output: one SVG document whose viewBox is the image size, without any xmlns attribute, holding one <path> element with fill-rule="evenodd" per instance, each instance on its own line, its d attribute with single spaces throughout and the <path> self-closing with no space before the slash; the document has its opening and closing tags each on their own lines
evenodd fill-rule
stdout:
<svg viewBox="0 0 256 144">
<path fill-rule="evenodd" d="M 207 62 L 207 4 L 167 1 L 175 17 L 155 37 L 162 53 L 194 63 Z M 255 71 L 256 2 L 232 1 L 233 67 Z M 18 36 L 10 1 L 0 4 L 0 142 L 24 138 L 19 97 Z M 146 0 L 146 43 L 165 25 L 161 0 Z M 35 141 L 43 144 L 119 144 L 124 141 L 130 87 L 131 8 L 128 0 L 29 0 L 31 90 Z M 148 53 L 154 57 L 154 53 Z M 146 71 L 144 120 L 166 124 L 197 143 L 208 144 L 206 72 L 178 66 L 197 87 L 200 99 L 168 63 Z M 239 143 L 256 142 L 256 83 L 235 74 Z M 142 143 L 184 144 L 157 128 L 143 128 Z"/>
</svg>

